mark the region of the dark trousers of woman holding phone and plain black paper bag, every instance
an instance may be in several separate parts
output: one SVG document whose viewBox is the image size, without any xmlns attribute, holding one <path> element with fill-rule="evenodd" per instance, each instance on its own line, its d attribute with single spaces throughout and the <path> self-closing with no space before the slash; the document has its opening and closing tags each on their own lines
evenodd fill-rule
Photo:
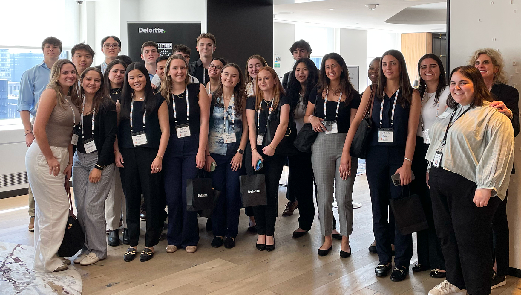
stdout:
<svg viewBox="0 0 521 295">
<path fill-rule="evenodd" d="M 404 147 L 369 146 L 366 158 L 367 182 L 373 204 L 373 232 L 376 251 L 380 262 L 391 262 L 391 234 L 387 221 L 390 211 L 389 199 L 399 198 L 401 186 L 394 186 L 391 175 L 403 165 Z M 394 230 L 394 264 L 409 267 L 413 257 L 413 235 L 402 235 L 398 228 Z"/>
</svg>

